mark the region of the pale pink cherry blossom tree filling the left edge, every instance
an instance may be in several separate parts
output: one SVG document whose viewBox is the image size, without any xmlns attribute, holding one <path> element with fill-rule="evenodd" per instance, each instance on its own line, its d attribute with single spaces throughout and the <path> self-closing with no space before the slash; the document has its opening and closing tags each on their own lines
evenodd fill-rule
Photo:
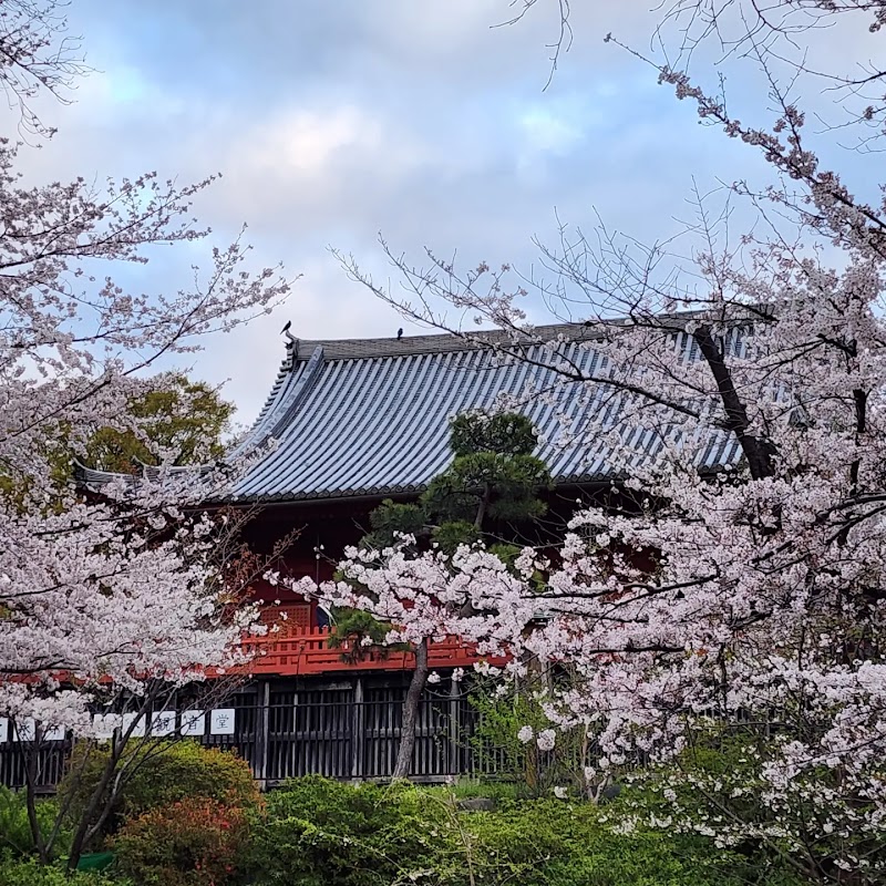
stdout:
<svg viewBox="0 0 886 886">
<path fill-rule="evenodd" d="M 49 130 L 28 101 L 41 90 L 63 97 L 81 72 L 63 13 L 53 0 L 0 3 L 0 84 L 31 134 Z M 270 310 L 289 282 L 279 268 L 251 272 L 238 238 L 212 248 L 208 269 L 178 291 L 128 291 L 115 281 L 124 262 L 208 235 L 190 203 L 212 178 L 35 186 L 17 172 L 29 150 L 0 140 L 0 715 L 39 742 L 59 730 L 89 738 L 96 704 L 125 694 L 144 705 L 241 661 L 253 616 L 233 606 L 230 523 L 195 508 L 246 462 L 174 472 L 154 446 L 152 476 L 84 496 L 73 477 L 60 490 L 52 442 L 82 455 L 103 427 L 151 447 L 150 415 L 127 406 L 164 390 L 167 379 L 148 375 L 157 362 Z M 130 735 L 115 739 L 121 749 Z M 29 810 L 47 857 L 34 775 Z M 112 766 L 107 783 L 119 789 L 119 776 Z M 72 864 L 91 827 L 80 823 Z"/>
</svg>

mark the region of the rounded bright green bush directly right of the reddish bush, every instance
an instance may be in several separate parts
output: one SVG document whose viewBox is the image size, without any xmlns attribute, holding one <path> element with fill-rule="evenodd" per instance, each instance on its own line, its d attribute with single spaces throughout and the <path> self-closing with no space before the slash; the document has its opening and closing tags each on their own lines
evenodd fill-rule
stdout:
<svg viewBox="0 0 886 886">
<path fill-rule="evenodd" d="M 293 779 L 268 794 L 250 868 L 258 884 L 391 886 L 440 861 L 442 805 L 405 785 Z"/>
</svg>

